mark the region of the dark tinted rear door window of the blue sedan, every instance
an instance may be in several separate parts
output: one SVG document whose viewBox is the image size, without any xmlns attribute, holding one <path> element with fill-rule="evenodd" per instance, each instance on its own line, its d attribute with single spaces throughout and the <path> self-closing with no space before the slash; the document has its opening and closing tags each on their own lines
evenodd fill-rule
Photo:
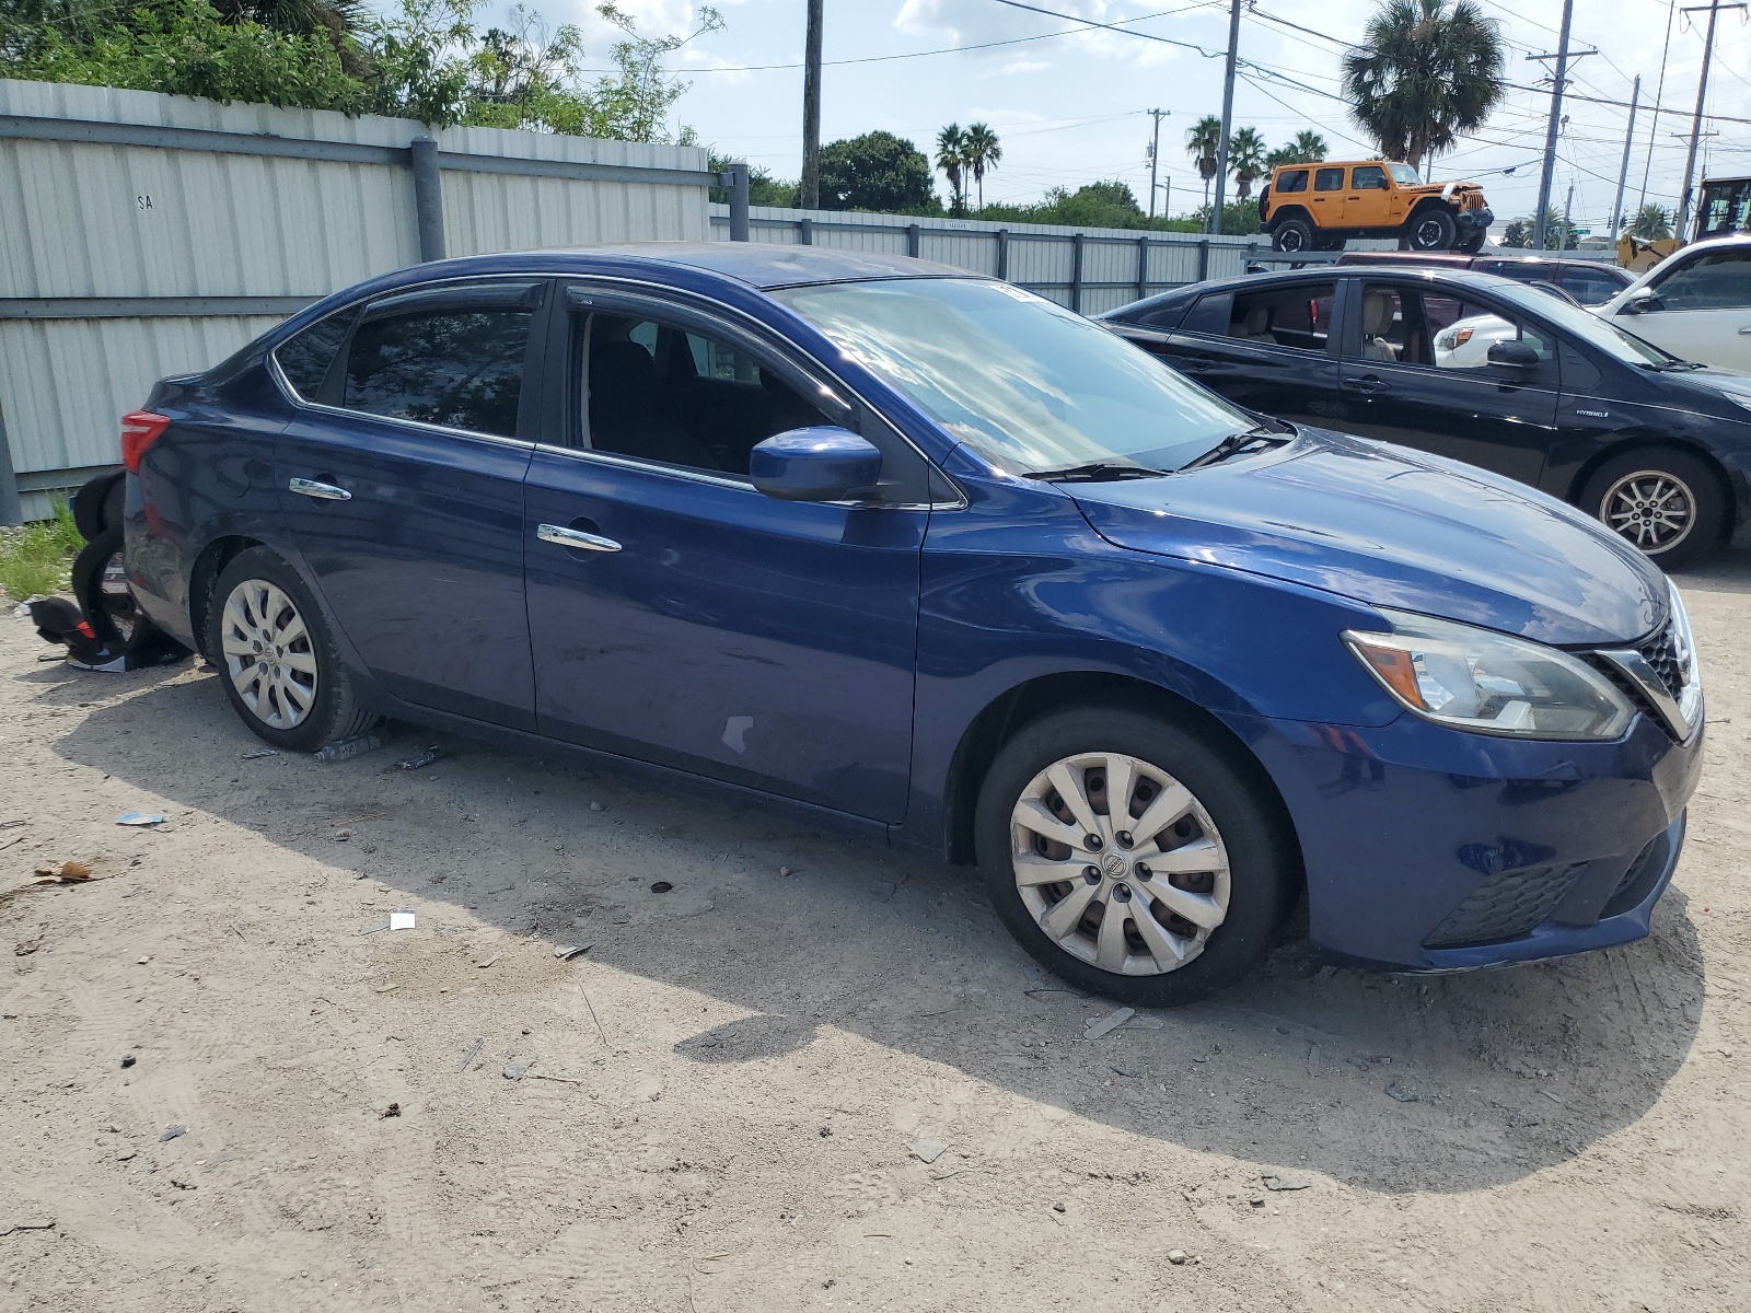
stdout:
<svg viewBox="0 0 1751 1313">
<path fill-rule="evenodd" d="M 529 310 L 432 310 L 359 326 L 347 354 L 348 410 L 517 436 Z"/>
</svg>

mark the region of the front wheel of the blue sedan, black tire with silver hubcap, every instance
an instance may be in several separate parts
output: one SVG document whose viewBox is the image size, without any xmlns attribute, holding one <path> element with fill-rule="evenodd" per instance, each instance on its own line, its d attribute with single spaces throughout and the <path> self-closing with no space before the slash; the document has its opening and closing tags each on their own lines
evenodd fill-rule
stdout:
<svg viewBox="0 0 1751 1313">
<path fill-rule="evenodd" d="M 1131 828 L 1152 825 L 1156 804 L 1156 821 L 1166 818 L 1157 833 L 1180 854 L 1168 877 L 1136 870 L 1147 858 L 1161 865 L 1157 839 L 1121 837 L 1110 821 L 1105 788 L 1121 762 L 1133 777 Z M 1077 805 L 1093 812 L 1100 849 L 1087 837 L 1080 847 L 1066 842 L 1084 826 L 1054 781 L 1082 790 Z M 974 821 L 979 870 L 1010 933 L 1054 975 L 1121 1003 L 1192 1003 L 1259 963 L 1299 895 L 1294 842 L 1259 791 L 1222 753 L 1164 720 L 1066 707 L 1024 727 L 991 765 Z M 1068 879 L 1042 879 L 1059 870 Z M 1100 926 L 1112 909 L 1126 910 L 1108 938 Z"/>
</svg>

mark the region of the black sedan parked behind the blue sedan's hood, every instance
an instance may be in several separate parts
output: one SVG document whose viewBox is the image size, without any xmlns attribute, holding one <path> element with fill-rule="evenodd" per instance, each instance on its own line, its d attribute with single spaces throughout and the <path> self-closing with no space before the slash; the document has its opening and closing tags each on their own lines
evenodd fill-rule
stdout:
<svg viewBox="0 0 1751 1313">
<path fill-rule="evenodd" d="M 1326 268 L 1101 317 L 1248 410 L 1483 466 L 1676 569 L 1751 515 L 1751 376 L 1487 273 Z"/>
</svg>

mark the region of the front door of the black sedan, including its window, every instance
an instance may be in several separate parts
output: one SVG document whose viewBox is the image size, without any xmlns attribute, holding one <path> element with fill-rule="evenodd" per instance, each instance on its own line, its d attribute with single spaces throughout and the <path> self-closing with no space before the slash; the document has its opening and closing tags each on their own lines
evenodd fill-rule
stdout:
<svg viewBox="0 0 1751 1313">
<path fill-rule="evenodd" d="M 1557 350 L 1506 306 L 1410 282 L 1361 280 L 1343 361 L 1345 425 L 1537 483 L 1557 425 Z M 1536 369 L 1490 364 L 1518 338 Z"/>
</svg>

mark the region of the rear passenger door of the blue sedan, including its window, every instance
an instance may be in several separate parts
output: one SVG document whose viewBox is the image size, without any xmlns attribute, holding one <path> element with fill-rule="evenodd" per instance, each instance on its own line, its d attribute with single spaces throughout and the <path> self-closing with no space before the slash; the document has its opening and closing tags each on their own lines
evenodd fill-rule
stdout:
<svg viewBox="0 0 1751 1313">
<path fill-rule="evenodd" d="M 524 431 L 538 413 L 524 376 L 545 292 L 397 292 L 355 317 L 333 364 L 312 366 L 299 338 L 277 354 L 306 404 L 280 434 L 275 481 L 329 616 L 389 693 L 524 730 Z"/>
</svg>

